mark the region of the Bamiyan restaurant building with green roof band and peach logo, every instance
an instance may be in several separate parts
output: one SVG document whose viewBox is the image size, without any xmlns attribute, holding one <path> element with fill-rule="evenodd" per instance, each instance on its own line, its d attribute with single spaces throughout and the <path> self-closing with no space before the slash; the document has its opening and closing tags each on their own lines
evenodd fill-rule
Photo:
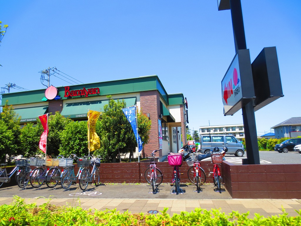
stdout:
<svg viewBox="0 0 301 226">
<path fill-rule="evenodd" d="M 144 145 L 142 157 L 160 149 L 163 159 L 186 142 L 187 100 L 182 93 L 167 94 L 157 75 L 6 93 L 2 95 L 2 106 L 8 100 L 21 116 L 20 124 L 36 123 L 39 115 L 56 111 L 82 121 L 88 120 L 88 109 L 103 111 L 107 95 L 115 100 L 124 99 L 127 107 L 137 105 L 151 120 L 150 140 Z"/>
</svg>

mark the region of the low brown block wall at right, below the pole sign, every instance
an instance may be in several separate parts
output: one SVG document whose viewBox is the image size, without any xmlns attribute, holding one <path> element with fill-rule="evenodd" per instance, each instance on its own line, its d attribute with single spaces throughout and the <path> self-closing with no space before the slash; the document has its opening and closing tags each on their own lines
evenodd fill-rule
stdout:
<svg viewBox="0 0 301 226">
<path fill-rule="evenodd" d="M 301 199 L 301 164 L 222 163 L 225 187 L 237 199 Z"/>
</svg>

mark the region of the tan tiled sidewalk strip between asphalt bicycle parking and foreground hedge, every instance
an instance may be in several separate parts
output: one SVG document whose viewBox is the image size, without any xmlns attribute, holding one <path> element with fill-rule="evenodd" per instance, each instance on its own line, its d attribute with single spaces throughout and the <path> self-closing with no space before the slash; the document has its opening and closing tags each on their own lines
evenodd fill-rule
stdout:
<svg viewBox="0 0 301 226">
<path fill-rule="evenodd" d="M 49 201 L 50 200 L 50 201 Z M 10 204 L 11 197 L 0 198 L 0 205 Z M 254 213 L 265 217 L 282 214 L 282 208 L 289 216 L 297 216 L 295 211 L 301 209 L 301 200 L 298 199 L 107 199 L 107 198 L 25 198 L 26 203 L 36 203 L 37 206 L 50 202 L 60 206 L 81 206 L 82 209 L 117 209 L 119 212 L 128 210 L 132 213 L 147 213 L 150 210 L 163 210 L 168 207 L 167 213 L 173 215 L 181 211 L 191 212 L 199 207 L 206 210 L 220 209 L 226 214 L 234 211 L 245 213 L 250 211 L 249 218 Z M 160 212 L 159 212 L 160 213 Z"/>
</svg>

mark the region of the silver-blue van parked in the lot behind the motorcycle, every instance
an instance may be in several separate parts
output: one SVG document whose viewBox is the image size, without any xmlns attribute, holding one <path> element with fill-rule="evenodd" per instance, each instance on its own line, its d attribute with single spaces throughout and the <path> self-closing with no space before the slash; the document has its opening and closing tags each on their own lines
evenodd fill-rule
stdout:
<svg viewBox="0 0 301 226">
<path fill-rule="evenodd" d="M 228 148 L 227 154 L 233 154 L 237 157 L 244 155 L 244 145 L 240 143 L 233 135 L 201 135 L 202 153 L 207 153 L 213 148 L 222 149 L 224 146 Z"/>
</svg>

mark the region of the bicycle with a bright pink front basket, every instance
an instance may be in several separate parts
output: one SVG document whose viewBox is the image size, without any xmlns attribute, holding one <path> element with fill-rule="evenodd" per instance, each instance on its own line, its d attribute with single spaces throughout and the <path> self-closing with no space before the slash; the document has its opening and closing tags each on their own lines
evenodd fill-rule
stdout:
<svg viewBox="0 0 301 226">
<path fill-rule="evenodd" d="M 169 165 L 173 166 L 173 178 L 170 184 L 170 186 L 173 186 L 173 188 L 171 189 L 170 193 L 183 194 L 184 192 L 180 188 L 180 170 L 179 170 L 179 166 L 182 165 L 183 155 L 182 153 L 169 152 L 169 154 L 167 155 L 167 160 Z"/>
</svg>

